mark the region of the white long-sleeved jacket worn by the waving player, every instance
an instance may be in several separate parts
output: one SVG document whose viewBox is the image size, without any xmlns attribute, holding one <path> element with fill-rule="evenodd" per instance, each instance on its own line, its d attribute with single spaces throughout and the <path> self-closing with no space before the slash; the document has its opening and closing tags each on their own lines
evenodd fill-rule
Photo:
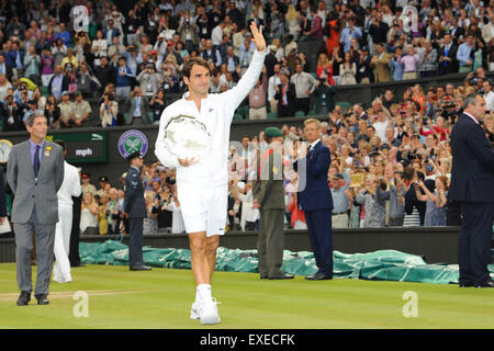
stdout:
<svg viewBox="0 0 494 351">
<path fill-rule="evenodd" d="M 201 101 L 201 111 L 193 101 L 186 98 L 167 106 L 159 120 L 158 138 L 155 144 L 155 155 L 164 166 L 177 168 L 177 182 L 180 185 L 211 188 L 228 183 L 228 144 L 229 127 L 235 110 L 256 86 L 265 64 L 265 52 L 256 49 L 249 68 L 238 84 L 223 93 L 210 93 Z M 210 132 L 213 145 L 210 155 L 189 167 L 182 167 L 178 159 L 165 146 L 165 126 L 168 121 L 180 114 L 193 116 L 202 122 Z"/>
</svg>

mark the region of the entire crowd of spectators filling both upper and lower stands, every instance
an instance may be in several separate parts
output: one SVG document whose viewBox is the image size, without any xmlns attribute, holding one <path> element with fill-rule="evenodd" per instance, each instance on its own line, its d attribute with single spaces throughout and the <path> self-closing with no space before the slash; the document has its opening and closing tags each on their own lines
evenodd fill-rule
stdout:
<svg viewBox="0 0 494 351">
<path fill-rule="evenodd" d="M 85 126 L 91 118 L 101 127 L 158 123 L 170 97 L 187 89 L 181 68 L 191 57 L 210 63 L 212 93 L 235 87 L 255 50 L 254 21 L 263 26 L 269 53 L 246 99 L 247 116 L 312 113 L 323 121 L 336 226 L 442 225 L 447 213 L 453 223 L 454 204 L 446 200 L 449 133 L 469 93 L 481 92 L 494 110 L 486 77 L 494 67 L 493 10 L 480 0 L 142 0 L 128 11 L 110 0 L 0 1 L 2 131 L 24 129 L 36 110 L 50 128 Z M 316 45 L 315 64 L 299 50 L 304 42 Z M 348 110 L 334 101 L 344 84 L 456 72 L 468 73 L 463 83 L 427 91 L 411 84 L 403 97 L 390 90 Z M 493 124 L 487 116 L 491 140 Z M 283 132 L 287 145 L 304 139 L 295 126 Z M 249 170 L 262 143 L 262 133 L 245 136 L 244 148 L 232 149 L 231 228 L 256 228 Z M 285 158 L 289 165 L 290 152 Z M 161 165 L 143 172 L 147 233 L 183 231 L 173 177 Z M 297 179 L 290 171 L 285 177 L 287 227 L 301 228 Z M 85 195 L 87 227 L 125 230 L 115 214 L 123 201 L 119 185 Z"/>
</svg>

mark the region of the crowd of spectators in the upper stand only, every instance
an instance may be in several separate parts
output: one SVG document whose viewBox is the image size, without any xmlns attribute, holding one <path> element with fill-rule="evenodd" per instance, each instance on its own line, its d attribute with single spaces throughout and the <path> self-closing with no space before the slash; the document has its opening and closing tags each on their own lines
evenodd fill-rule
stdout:
<svg viewBox="0 0 494 351">
<path fill-rule="evenodd" d="M 246 100 L 252 120 L 326 115 L 341 84 L 494 64 L 494 12 L 480 0 L 142 0 L 122 11 L 110 0 L 2 2 L 2 131 L 23 129 L 36 110 L 53 128 L 91 117 L 102 127 L 158 123 L 187 88 L 181 68 L 190 57 L 211 64 L 211 92 L 237 83 L 255 50 L 251 21 L 270 43 L 263 77 Z M 307 41 L 318 49 L 316 67 L 299 52 Z"/>
</svg>

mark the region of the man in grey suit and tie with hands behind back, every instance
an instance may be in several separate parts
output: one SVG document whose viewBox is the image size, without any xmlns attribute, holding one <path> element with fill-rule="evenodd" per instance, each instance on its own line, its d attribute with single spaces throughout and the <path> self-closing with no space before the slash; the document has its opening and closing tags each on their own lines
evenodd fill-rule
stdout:
<svg viewBox="0 0 494 351">
<path fill-rule="evenodd" d="M 57 191 L 64 181 L 64 152 L 59 145 L 45 140 L 48 129 L 46 116 L 32 114 L 26 120 L 26 128 L 30 139 L 12 148 L 7 166 L 7 180 L 14 193 L 12 223 L 18 285 L 21 290 L 18 306 L 29 304 L 33 290 L 33 231 L 37 259 L 34 297 L 38 305 L 49 304 L 55 225 L 58 222 Z"/>
</svg>

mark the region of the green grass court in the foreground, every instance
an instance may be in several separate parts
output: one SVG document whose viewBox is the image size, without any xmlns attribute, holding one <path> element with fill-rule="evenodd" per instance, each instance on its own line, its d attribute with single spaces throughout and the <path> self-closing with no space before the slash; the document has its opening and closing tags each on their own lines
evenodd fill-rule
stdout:
<svg viewBox="0 0 494 351">
<path fill-rule="evenodd" d="M 33 278 L 35 276 L 33 268 Z M 195 286 L 190 270 L 124 265 L 72 269 L 74 282 L 50 283 L 50 305 L 15 305 L 15 264 L 0 264 L 0 328 L 70 329 L 339 329 L 493 328 L 494 292 L 450 284 L 337 279 L 308 282 L 259 280 L 258 274 L 215 272 L 213 296 L 222 322 L 189 318 Z M 75 292 L 89 295 L 89 317 L 75 317 Z M 406 318 L 403 299 L 416 293 L 418 317 Z"/>
</svg>

